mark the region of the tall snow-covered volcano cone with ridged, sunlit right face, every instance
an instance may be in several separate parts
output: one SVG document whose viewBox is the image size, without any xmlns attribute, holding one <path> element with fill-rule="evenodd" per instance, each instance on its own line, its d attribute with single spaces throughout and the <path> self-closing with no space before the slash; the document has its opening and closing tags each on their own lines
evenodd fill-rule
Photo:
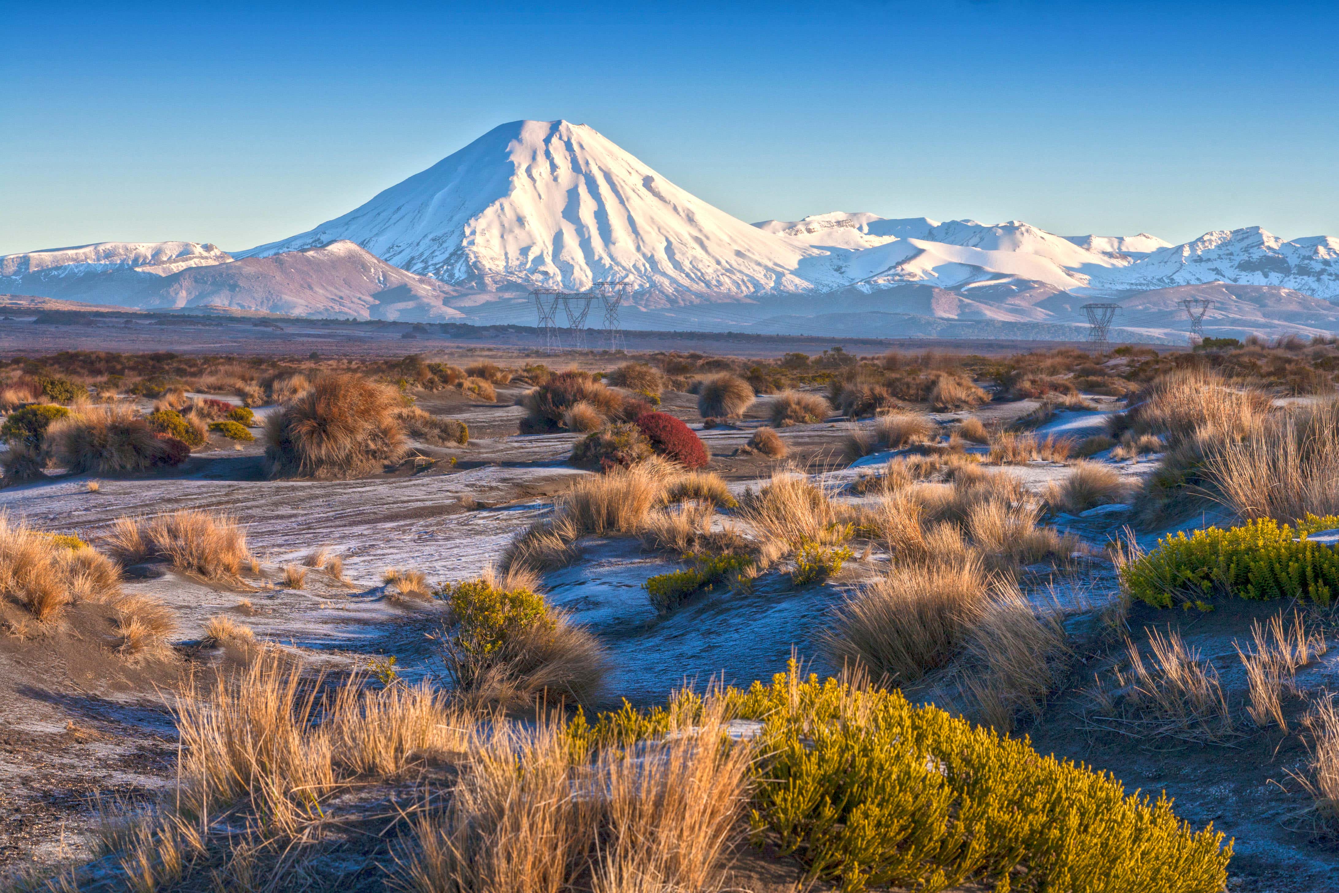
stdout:
<svg viewBox="0 0 1339 893">
<path fill-rule="evenodd" d="M 585 125 L 490 130 L 362 208 L 261 245 L 262 257 L 345 238 L 412 273 L 477 288 L 585 288 L 625 278 L 665 293 L 809 291 L 818 254 L 679 189 Z"/>
</svg>

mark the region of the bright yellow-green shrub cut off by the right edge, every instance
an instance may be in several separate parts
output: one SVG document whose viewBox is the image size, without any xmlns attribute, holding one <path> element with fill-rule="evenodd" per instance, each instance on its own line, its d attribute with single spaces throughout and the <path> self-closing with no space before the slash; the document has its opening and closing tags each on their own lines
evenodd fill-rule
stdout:
<svg viewBox="0 0 1339 893">
<path fill-rule="evenodd" d="M 1328 605 L 1339 590 L 1339 549 L 1311 542 L 1306 534 L 1335 527 L 1336 515 L 1307 515 L 1296 529 L 1261 518 L 1229 530 L 1177 533 L 1127 562 L 1121 581 L 1131 596 L 1156 608 L 1208 594 L 1310 598 Z"/>
</svg>

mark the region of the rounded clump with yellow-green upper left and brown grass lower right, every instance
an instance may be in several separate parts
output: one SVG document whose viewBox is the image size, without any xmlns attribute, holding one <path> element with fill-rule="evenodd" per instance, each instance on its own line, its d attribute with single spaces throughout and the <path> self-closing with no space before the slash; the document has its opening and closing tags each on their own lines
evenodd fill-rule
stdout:
<svg viewBox="0 0 1339 893">
<path fill-rule="evenodd" d="M 536 582 L 489 572 L 439 590 L 451 612 L 442 643 L 447 672 L 471 702 L 520 707 L 548 692 L 581 703 L 599 688 L 604 648 L 553 609 Z"/>
</svg>

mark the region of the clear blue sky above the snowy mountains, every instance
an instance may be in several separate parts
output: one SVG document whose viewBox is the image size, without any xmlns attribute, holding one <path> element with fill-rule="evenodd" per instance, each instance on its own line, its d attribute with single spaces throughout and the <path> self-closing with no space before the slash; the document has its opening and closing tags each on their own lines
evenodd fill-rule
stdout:
<svg viewBox="0 0 1339 893">
<path fill-rule="evenodd" d="M 743 218 L 1339 234 L 1339 12 L 1288 3 L 0 0 L 0 253 L 242 249 L 498 123 Z"/>
</svg>

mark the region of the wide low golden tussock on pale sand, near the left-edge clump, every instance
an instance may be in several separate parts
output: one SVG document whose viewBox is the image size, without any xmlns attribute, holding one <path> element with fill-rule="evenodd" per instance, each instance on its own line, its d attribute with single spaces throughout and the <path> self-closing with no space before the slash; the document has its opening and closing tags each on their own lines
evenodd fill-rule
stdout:
<svg viewBox="0 0 1339 893">
<path fill-rule="evenodd" d="M 226 514 L 182 509 L 151 518 L 116 518 L 107 538 L 125 564 L 166 560 L 209 580 L 237 578 L 250 562 L 246 532 Z"/>
</svg>

